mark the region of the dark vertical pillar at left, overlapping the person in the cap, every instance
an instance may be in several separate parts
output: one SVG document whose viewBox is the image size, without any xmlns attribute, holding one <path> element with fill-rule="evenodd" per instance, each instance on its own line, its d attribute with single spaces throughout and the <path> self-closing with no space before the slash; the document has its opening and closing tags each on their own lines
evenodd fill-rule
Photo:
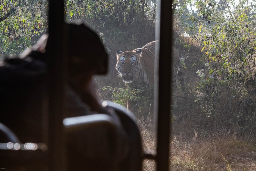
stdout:
<svg viewBox="0 0 256 171">
<path fill-rule="evenodd" d="M 49 0 L 49 96 L 48 96 L 48 167 L 66 170 L 63 132 L 65 104 L 65 56 L 63 56 L 64 1 Z"/>
</svg>

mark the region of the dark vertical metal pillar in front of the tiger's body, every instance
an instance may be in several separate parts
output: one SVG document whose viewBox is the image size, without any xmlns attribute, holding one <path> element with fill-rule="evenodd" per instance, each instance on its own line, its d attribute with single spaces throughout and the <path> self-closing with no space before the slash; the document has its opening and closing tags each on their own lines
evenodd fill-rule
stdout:
<svg viewBox="0 0 256 171">
<path fill-rule="evenodd" d="M 172 1 L 161 1 L 156 168 L 169 170 Z"/>
</svg>

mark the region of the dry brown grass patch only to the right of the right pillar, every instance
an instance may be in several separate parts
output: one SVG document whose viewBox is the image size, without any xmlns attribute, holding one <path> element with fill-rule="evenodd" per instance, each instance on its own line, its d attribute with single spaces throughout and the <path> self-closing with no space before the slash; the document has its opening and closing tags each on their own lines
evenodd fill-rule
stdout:
<svg viewBox="0 0 256 171">
<path fill-rule="evenodd" d="M 235 136 L 171 141 L 171 170 L 255 170 L 256 147 Z"/>
</svg>

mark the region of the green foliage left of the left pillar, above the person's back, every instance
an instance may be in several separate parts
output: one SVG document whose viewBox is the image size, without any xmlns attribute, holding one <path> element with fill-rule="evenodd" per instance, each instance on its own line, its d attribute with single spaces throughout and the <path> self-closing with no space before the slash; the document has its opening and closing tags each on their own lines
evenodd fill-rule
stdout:
<svg viewBox="0 0 256 171">
<path fill-rule="evenodd" d="M 19 54 L 45 33 L 47 2 L 11 0 L 0 2 L 1 15 L 10 13 L 0 22 L 0 57 Z M 2 17 L 2 16 L 1 16 Z"/>
</svg>

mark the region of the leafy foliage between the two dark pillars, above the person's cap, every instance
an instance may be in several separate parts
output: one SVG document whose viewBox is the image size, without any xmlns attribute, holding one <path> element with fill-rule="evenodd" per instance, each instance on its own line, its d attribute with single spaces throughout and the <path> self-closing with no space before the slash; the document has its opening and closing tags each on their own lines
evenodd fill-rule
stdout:
<svg viewBox="0 0 256 171">
<path fill-rule="evenodd" d="M 88 24 L 94 23 L 95 28 L 103 28 L 112 23 L 113 26 L 125 26 L 138 22 L 140 16 L 152 23 L 155 19 L 155 11 L 147 3 L 139 1 L 70 1 L 65 2 L 65 14 L 67 20 L 86 19 Z"/>
</svg>

